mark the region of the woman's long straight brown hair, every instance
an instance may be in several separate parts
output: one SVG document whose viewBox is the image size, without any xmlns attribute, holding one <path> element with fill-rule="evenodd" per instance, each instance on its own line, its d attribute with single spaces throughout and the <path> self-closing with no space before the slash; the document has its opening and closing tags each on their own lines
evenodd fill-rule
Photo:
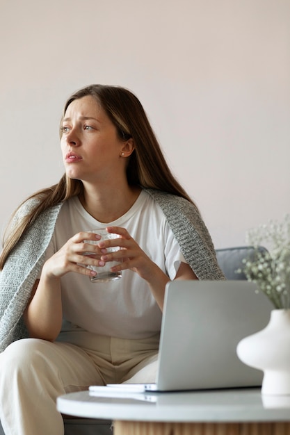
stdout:
<svg viewBox="0 0 290 435">
<path fill-rule="evenodd" d="M 134 140 L 135 149 L 127 165 L 127 180 L 129 185 L 163 190 L 193 202 L 188 197 L 184 188 L 172 175 L 145 110 L 138 98 L 131 91 L 120 86 L 89 85 L 76 91 L 67 99 L 63 109 L 63 117 L 72 101 L 88 95 L 94 97 L 97 104 L 105 110 L 115 125 L 120 138 L 124 140 L 133 138 Z M 66 175 L 63 175 L 61 180 L 54 186 L 42 189 L 31 195 L 28 199 L 38 199 L 35 207 L 33 207 L 28 215 L 22 218 L 13 231 L 6 231 L 7 237 L 4 236 L 3 251 L 0 256 L 0 270 L 3 268 L 8 255 L 22 234 L 42 211 L 60 202 L 64 202 L 74 195 L 79 195 L 82 190 L 83 183 L 80 180 L 70 179 Z"/>
</svg>

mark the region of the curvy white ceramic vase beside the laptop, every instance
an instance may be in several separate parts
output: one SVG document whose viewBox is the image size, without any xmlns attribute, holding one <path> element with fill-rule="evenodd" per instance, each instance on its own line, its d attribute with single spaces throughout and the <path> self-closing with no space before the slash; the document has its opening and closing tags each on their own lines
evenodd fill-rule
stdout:
<svg viewBox="0 0 290 435">
<path fill-rule="evenodd" d="M 290 309 L 275 309 L 266 328 L 243 338 L 236 348 L 239 359 L 263 370 L 261 393 L 290 395 Z"/>
</svg>

